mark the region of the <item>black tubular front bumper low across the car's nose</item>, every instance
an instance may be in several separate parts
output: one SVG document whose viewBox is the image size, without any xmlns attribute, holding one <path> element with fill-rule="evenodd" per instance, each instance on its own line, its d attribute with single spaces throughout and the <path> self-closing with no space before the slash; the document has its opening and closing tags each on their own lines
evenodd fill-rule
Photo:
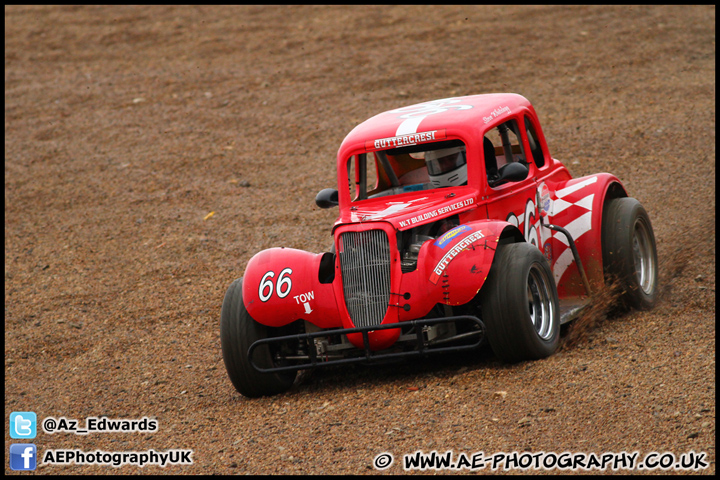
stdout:
<svg viewBox="0 0 720 480">
<path fill-rule="evenodd" d="M 468 332 L 468 334 L 465 334 L 466 338 L 468 336 L 477 337 L 477 340 L 474 343 L 471 344 L 463 344 L 463 345 L 450 345 L 450 346 L 437 346 L 438 344 L 442 345 L 441 342 L 437 342 L 435 344 L 426 344 L 426 340 L 423 337 L 423 326 L 430 326 L 430 325 L 436 325 L 440 323 L 455 323 L 455 322 L 471 322 L 476 324 L 479 329 L 474 330 L 472 332 Z M 416 340 L 414 342 L 414 348 L 407 351 L 388 351 L 392 349 L 387 350 L 379 350 L 379 351 L 373 351 L 370 349 L 370 339 L 368 336 L 368 332 L 376 331 L 376 330 L 389 330 L 389 329 L 398 329 L 398 328 L 406 328 L 406 327 L 414 327 L 413 330 L 415 331 L 414 335 L 416 337 Z M 328 337 L 333 335 L 347 335 L 352 333 L 360 333 L 362 334 L 363 339 L 363 348 L 357 349 L 356 351 L 359 353 L 356 356 L 346 357 L 346 358 L 324 358 L 322 356 L 319 356 L 314 348 L 314 338 L 319 337 Z M 454 337 L 455 339 L 460 339 L 461 336 Z M 288 372 L 288 371 L 297 371 L 297 370 L 306 370 L 311 368 L 317 368 L 317 367 L 324 367 L 324 366 L 331 366 L 331 365 L 345 365 L 350 363 L 372 363 L 377 362 L 381 360 L 396 360 L 396 359 L 403 359 L 403 358 L 409 358 L 409 357 L 417 357 L 417 356 L 424 356 L 424 355 L 430 355 L 435 353 L 446 353 L 446 352 L 460 352 L 465 350 L 474 350 L 482 344 L 483 340 L 485 338 L 485 324 L 477 317 L 471 316 L 471 315 L 460 315 L 460 316 L 453 316 L 453 317 L 442 317 L 442 318 L 426 318 L 426 319 L 419 319 L 419 320 L 410 320 L 407 322 L 401 322 L 401 323 L 391 323 L 391 324 L 383 324 L 383 325 L 370 325 L 366 327 L 356 327 L 356 328 L 341 328 L 341 329 L 333 329 L 333 330 L 323 330 L 319 332 L 311 332 L 311 333 L 301 333 L 296 335 L 286 335 L 282 337 L 272 337 L 272 338 L 265 338 L 262 340 L 258 340 L 254 342 L 252 345 L 250 345 L 250 348 L 248 349 L 248 359 L 250 361 L 250 365 L 257 370 L 260 373 L 277 373 L 277 372 Z M 253 353 L 256 348 L 258 348 L 261 345 L 265 344 L 272 344 L 272 343 L 283 343 L 283 342 L 307 342 L 309 344 L 308 348 L 308 359 L 306 363 L 299 363 L 299 364 L 293 364 L 293 365 L 283 365 L 283 366 L 274 366 L 271 368 L 264 368 L 259 365 L 257 365 L 253 361 Z"/>
</svg>

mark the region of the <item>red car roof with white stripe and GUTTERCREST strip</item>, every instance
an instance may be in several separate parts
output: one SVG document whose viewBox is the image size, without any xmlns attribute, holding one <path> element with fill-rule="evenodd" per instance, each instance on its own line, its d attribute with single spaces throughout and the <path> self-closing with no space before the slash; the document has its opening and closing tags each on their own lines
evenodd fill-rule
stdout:
<svg viewBox="0 0 720 480">
<path fill-rule="evenodd" d="M 524 109 L 532 110 L 530 102 L 514 93 L 451 97 L 396 108 L 356 126 L 343 140 L 338 154 L 345 156 L 348 150 L 358 148 L 369 151 L 400 146 L 398 141 L 421 141 L 416 134 L 426 132 L 438 132 L 432 141 L 442 139 L 441 135 L 464 137 L 477 132 L 478 126 L 494 124 L 495 119 Z M 383 139 L 390 143 L 375 143 Z"/>
</svg>

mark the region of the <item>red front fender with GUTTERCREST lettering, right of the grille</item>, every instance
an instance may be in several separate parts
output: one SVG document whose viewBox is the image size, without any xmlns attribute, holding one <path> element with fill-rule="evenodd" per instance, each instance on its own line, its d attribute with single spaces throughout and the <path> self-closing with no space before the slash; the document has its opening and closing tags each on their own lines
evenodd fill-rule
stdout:
<svg viewBox="0 0 720 480">
<path fill-rule="evenodd" d="M 420 318 L 438 303 L 462 305 L 482 288 L 495 258 L 503 232 L 514 225 L 499 220 L 468 222 L 428 240 L 418 253 L 417 269 L 403 275 L 401 291 L 408 292 L 399 305 L 400 320 Z"/>
</svg>

